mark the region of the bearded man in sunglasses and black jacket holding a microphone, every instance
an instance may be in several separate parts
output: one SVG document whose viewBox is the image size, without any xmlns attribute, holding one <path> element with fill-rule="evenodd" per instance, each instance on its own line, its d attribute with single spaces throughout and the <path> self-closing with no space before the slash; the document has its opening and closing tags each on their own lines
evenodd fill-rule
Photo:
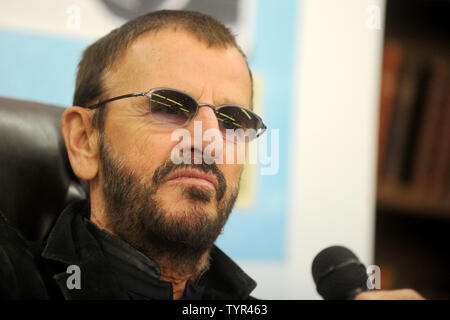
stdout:
<svg viewBox="0 0 450 320">
<path fill-rule="evenodd" d="M 43 243 L 1 224 L 0 296 L 252 298 L 256 283 L 214 246 L 242 172 L 220 160 L 265 129 L 251 105 L 245 56 L 203 14 L 150 13 L 88 47 L 62 132 L 89 202 L 69 205 Z M 199 123 L 226 143 L 206 152 Z M 173 139 L 180 129 L 194 139 Z"/>
</svg>

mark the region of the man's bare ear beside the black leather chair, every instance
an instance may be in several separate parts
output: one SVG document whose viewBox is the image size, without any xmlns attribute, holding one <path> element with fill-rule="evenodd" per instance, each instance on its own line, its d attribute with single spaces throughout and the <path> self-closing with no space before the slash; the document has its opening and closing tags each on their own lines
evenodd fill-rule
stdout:
<svg viewBox="0 0 450 320">
<path fill-rule="evenodd" d="M 92 115 L 91 110 L 75 106 L 66 109 L 61 121 L 72 169 L 78 178 L 87 181 L 99 171 L 98 131 L 92 127 Z"/>
</svg>

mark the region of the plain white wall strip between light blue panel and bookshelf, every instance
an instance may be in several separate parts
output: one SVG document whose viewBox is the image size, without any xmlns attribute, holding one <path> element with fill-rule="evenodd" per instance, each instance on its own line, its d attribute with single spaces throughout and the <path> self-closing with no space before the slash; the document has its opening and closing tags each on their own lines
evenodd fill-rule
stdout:
<svg viewBox="0 0 450 320">
<path fill-rule="evenodd" d="M 299 8 L 288 259 L 243 263 L 257 297 L 320 298 L 311 262 L 330 245 L 373 263 L 384 18 L 381 30 L 370 28 L 370 5 L 384 17 L 383 0 L 304 0 Z"/>
</svg>

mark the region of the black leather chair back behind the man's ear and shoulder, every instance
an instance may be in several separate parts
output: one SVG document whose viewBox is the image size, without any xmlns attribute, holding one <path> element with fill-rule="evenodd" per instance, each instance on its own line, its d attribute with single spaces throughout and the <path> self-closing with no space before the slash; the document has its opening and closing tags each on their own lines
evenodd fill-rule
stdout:
<svg viewBox="0 0 450 320">
<path fill-rule="evenodd" d="M 86 198 L 67 158 L 63 112 L 0 97 L 0 211 L 27 240 L 44 238 L 70 201 Z"/>
</svg>

